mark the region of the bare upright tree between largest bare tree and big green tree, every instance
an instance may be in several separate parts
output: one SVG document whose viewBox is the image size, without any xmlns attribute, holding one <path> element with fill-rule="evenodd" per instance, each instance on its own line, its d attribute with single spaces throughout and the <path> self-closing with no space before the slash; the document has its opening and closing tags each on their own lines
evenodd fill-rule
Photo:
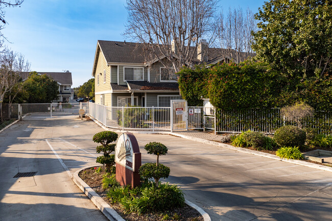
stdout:
<svg viewBox="0 0 332 221">
<path fill-rule="evenodd" d="M 242 62 L 252 55 L 251 32 L 257 31 L 254 14 L 248 8 L 228 9 L 227 16 L 220 13 L 218 17 L 218 41 L 223 50 L 225 61 Z"/>
</svg>

